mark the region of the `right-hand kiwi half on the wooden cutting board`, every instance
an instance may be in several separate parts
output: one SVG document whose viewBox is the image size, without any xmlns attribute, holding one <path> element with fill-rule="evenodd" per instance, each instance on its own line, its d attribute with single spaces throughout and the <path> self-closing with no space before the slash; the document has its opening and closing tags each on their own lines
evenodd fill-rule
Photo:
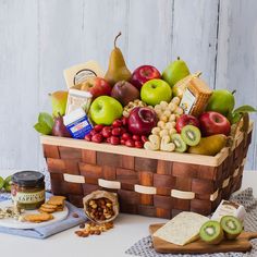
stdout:
<svg viewBox="0 0 257 257">
<path fill-rule="evenodd" d="M 236 238 L 243 230 L 242 222 L 234 216 L 223 216 L 220 220 L 220 224 L 228 240 Z"/>
</svg>

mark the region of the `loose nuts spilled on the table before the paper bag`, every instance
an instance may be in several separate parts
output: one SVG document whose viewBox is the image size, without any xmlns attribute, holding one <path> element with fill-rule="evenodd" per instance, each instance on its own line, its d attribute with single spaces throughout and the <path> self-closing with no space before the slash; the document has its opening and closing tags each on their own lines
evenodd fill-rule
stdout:
<svg viewBox="0 0 257 257">
<path fill-rule="evenodd" d="M 83 223 L 79 225 L 79 229 L 75 231 L 75 234 L 81 237 L 87 237 L 89 235 L 100 235 L 102 232 L 106 232 L 113 228 L 113 222 L 107 222 L 103 224 L 97 224 L 94 222 Z"/>
</svg>

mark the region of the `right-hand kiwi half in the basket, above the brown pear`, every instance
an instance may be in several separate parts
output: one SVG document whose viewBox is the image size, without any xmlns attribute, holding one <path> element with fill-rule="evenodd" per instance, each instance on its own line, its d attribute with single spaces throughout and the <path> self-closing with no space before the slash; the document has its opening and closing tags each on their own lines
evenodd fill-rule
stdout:
<svg viewBox="0 0 257 257">
<path fill-rule="evenodd" d="M 196 146 L 200 142 L 200 130 L 197 126 L 186 125 L 181 131 L 181 137 L 188 146 Z"/>
</svg>

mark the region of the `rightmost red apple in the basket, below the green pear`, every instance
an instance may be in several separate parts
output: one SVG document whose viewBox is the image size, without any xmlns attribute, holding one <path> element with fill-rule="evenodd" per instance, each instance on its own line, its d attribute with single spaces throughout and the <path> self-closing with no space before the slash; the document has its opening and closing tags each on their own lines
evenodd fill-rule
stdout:
<svg viewBox="0 0 257 257">
<path fill-rule="evenodd" d="M 229 135 L 231 125 L 229 120 L 219 112 L 208 111 L 199 117 L 200 131 L 204 136 L 211 136 L 216 134 Z"/>
</svg>

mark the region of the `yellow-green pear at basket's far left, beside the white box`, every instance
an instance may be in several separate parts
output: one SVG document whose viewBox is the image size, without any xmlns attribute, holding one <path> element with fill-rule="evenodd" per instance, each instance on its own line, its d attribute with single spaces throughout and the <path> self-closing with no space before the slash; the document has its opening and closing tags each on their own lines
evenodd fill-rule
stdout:
<svg viewBox="0 0 257 257">
<path fill-rule="evenodd" d="M 68 91 L 54 91 L 49 94 L 51 97 L 52 115 L 60 117 L 65 114 Z"/>
</svg>

